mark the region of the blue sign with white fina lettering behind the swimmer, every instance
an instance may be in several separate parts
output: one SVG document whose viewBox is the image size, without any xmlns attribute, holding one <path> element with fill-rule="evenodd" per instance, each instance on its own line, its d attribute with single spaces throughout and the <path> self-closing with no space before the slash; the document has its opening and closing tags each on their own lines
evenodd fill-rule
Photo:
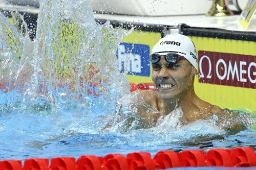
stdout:
<svg viewBox="0 0 256 170">
<path fill-rule="evenodd" d="M 117 49 L 119 71 L 150 77 L 150 46 L 121 42 Z"/>
</svg>

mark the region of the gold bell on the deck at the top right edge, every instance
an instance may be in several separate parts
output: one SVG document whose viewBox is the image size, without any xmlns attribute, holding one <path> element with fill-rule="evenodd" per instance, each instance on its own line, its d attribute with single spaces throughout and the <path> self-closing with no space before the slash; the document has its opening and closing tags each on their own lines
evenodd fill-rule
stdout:
<svg viewBox="0 0 256 170">
<path fill-rule="evenodd" d="M 227 16 L 227 15 L 234 15 L 234 13 L 228 9 L 226 0 L 212 0 L 211 8 L 205 15 L 206 16 Z"/>
</svg>

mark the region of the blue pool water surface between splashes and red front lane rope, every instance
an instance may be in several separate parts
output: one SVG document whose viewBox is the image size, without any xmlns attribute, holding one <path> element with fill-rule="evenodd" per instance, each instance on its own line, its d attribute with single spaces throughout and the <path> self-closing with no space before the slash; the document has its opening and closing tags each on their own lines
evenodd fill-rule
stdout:
<svg viewBox="0 0 256 170">
<path fill-rule="evenodd" d="M 93 110 L 93 109 L 92 109 Z M 110 153 L 123 155 L 132 152 L 150 152 L 154 156 L 161 150 L 208 151 L 213 148 L 231 149 L 252 147 L 256 150 L 256 132 L 245 130 L 236 135 L 196 124 L 166 131 L 157 128 L 130 129 L 127 132 L 101 131 L 112 114 L 83 113 L 66 110 L 60 113 L 15 113 L 0 117 L 0 157 L 4 159 L 53 158 Z M 125 127 L 123 125 L 123 127 Z"/>
</svg>

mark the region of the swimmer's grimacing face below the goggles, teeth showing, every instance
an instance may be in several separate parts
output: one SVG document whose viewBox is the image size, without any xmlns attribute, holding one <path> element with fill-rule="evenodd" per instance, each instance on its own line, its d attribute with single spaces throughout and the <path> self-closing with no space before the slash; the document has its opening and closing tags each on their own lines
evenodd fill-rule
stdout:
<svg viewBox="0 0 256 170">
<path fill-rule="evenodd" d="M 169 63 L 161 56 L 158 63 L 152 64 L 152 80 L 164 101 L 182 99 L 193 88 L 195 71 L 186 59 Z"/>
</svg>

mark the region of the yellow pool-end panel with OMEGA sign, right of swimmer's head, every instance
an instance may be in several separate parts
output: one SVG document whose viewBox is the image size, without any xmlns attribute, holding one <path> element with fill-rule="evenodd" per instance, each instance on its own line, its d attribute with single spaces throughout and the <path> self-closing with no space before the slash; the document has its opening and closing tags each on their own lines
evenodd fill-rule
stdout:
<svg viewBox="0 0 256 170">
<path fill-rule="evenodd" d="M 256 42 L 190 36 L 198 49 L 196 93 L 232 110 L 256 111 Z"/>
</svg>

